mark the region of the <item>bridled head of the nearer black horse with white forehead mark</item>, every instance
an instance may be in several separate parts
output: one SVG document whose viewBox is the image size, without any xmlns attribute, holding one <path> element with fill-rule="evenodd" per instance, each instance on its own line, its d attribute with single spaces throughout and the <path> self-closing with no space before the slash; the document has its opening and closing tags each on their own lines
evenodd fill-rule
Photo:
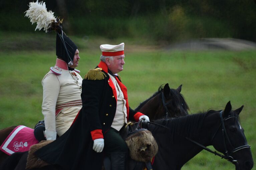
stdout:
<svg viewBox="0 0 256 170">
<path fill-rule="evenodd" d="M 219 112 L 220 121 L 212 137 L 212 145 L 235 164 L 236 170 L 250 170 L 253 167 L 252 153 L 239 121 L 243 105 L 236 110 L 231 109 L 229 101 L 224 111 Z"/>
</svg>

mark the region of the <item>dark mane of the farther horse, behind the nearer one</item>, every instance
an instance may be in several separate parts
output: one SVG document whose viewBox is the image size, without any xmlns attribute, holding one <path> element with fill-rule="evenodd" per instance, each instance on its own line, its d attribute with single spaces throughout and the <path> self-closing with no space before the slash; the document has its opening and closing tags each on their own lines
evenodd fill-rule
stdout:
<svg viewBox="0 0 256 170">
<path fill-rule="evenodd" d="M 158 88 L 158 91 L 155 92 L 150 98 L 148 98 L 147 100 L 143 101 L 142 103 L 140 103 L 140 105 L 135 109 L 135 110 L 140 110 L 149 100 L 151 100 L 152 98 L 154 98 L 156 95 L 158 95 L 159 93 L 161 93 L 164 90 L 164 85 L 161 85 Z M 183 108 L 185 110 L 189 110 L 189 106 L 186 103 L 183 95 L 181 93 L 179 93 L 176 89 L 170 88 L 170 93 L 171 96 L 174 98 L 174 102 L 176 105 L 179 105 L 180 103 L 183 104 Z M 160 96 L 161 97 L 161 96 Z"/>
</svg>

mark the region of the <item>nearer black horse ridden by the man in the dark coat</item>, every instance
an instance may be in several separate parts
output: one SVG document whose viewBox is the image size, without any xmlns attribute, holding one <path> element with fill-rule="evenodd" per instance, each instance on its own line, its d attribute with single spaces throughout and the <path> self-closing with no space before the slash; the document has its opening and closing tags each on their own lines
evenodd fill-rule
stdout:
<svg viewBox="0 0 256 170">
<path fill-rule="evenodd" d="M 219 154 L 221 157 L 235 164 L 236 170 L 252 169 L 251 149 L 239 121 L 243 106 L 234 111 L 231 107 L 228 102 L 224 111 L 210 110 L 179 118 L 160 119 L 155 121 L 156 124 L 145 124 L 159 146 L 153 168 L 180 170 L 186 162 L 202 151 L 203 147 L 213 145 L 224 154 Z M 2 168 L 25 169 L 26 155 L 27 152 L 11 155 Z M 41 169 L 45 168 L 58 169 L 54 166 Z"/>
</svg>

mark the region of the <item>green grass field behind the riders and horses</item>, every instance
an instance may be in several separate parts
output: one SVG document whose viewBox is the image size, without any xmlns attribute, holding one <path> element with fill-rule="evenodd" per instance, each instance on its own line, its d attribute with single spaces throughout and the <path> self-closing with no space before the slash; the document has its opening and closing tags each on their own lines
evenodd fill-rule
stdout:
<svg viewBox="0 0 256 170">
<path fill-rule="evenodd" d="M 83 42 L 78 70 L 83 77 L 99 62 L 99 43 Z M 1 42 L 0 42 L 1 44 Z M 132 108 L 149 98 L 162 84 L 182 86 L 190 114 L 223 109 L 230 100 L 233 108 L 244 105 L 241 124 L 256 161 L 256 51 L 168 51 L 153 46 L 125 44 L 124 71 L 120 73 L 127 86 Z M 12 125 L 33 128 L 41 114 L 41 80 L 55 64 L 55 51 L 20 50 L 0 52 L 0 129 Z M 212 147 L 210 147 L 212 148 Z M 213 154 L 202 151 L 182 170 L 231 170 L 235 166 Z M 256 169 L 256 168 L 253 168 Z"/>
</svg>

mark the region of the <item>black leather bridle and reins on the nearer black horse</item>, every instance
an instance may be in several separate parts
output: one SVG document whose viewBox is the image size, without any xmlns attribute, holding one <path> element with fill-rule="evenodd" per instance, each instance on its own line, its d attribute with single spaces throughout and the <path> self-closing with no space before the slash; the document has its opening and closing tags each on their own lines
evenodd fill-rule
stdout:
<svg viewBox="0 0 256 170">
<path fill-rule="evenodd" d="M 227 135 L 227 132 L 226 132 L 226 128 L 225 128 L 224 121 L 227 120 L 227 119 L 229 119 L 229 118 L 235 117 L 235 116 L 231 116 L 231 117 L 227 117 L 227 118 L 223 119 L 223 117 L 222 117 L 222 112 L 223 112 L 223 111 L 220 112 L 221 124 L 220 124 L 219 128 L 222 126 L 222 136 L 223 136 L 224 147 L 225 147 L 225 155 L 219 154 L 219 153 L 217 153 L 216 151 L 213 151 L 213 150 L 211 150 L 211 149 L 205 147 L 204 145 L 202 145 L 202 144 L 196 142 L 195 140 L 192 140 L 192 139 L 190 139 L 190 138 L 188 138 L 188 137 L 186 137 L 186 136 L 184 136 L 184 138 L 187 139 L 187 140 L 189 140 L 189 141 L 191 141 L 191 142 L 193 142 L 194 144 L 196 144 L 196 145 L 202 147 L 204 150 L 206 150 L 206 151 L 208 151 L 208 152 L 210 152 L 210 153 L 213 153 L 214 155 L 217 155 L 217 156 L 219 156 L 219 157 L 221 157 L 221 158 L 224 158 L 224 159 L 226 159 L 226 160 L 228 160 L 228 161 L 230 161 L 230 162 L 232 162 L 232 163 L 236 163 L 237 160 L 235 160 L 235 159 L 234 159 L 232 156 L 230 156 L 230 155 L 232 155 L 234 152 L 236 152 L 236 151 L 238 151 L 238 150 L 245 149 L 245 148 L 251 148 L 251 146 L 248 145 L 247 143 L 246 143 L 246 145 L 242 145 L 242 146 L 239 146 L 239 147 L 237 147 L 237 148 L 234 148 L 234 147 L 232 146 L 232 144 L 231 144 L 231 142 L 230 142 L 230 140 L 229 140 L 229 137 L 228 137 L 228 135 Z M 235 117 L 235 118 L 236 118 L 236 117 Z M 161 124 L 158 124 L 158 123 L 154 123 L 154 122 L 148 122 L 148 123 L 155 124 L 155 125 L 164 127 L 164 128 L 166 128 L 166 129 L 168 129 L 168 130 L 171 130 L 169 127 L 164 126 L 164 125 L 161 125 Z M 216 130 L 216 132 L 214 133 L 214 135 L 213 135 L 213 137 L 212 137 L 212 140 L 213 140 L 213 138 L 215 137 L 215 135 L 217 134 L 217 131 L 219 130 L 219 128 L 218 128 L 218 129 Z M 227 150 L 227 147 L 226 147 L 225 136 L 226 136 L 226 138 L 228 139 L 228 142 L 230 143 L 230 145 L 234 148 L 230 154 L 228 153 L 228 150 Z"/>
</svg>

